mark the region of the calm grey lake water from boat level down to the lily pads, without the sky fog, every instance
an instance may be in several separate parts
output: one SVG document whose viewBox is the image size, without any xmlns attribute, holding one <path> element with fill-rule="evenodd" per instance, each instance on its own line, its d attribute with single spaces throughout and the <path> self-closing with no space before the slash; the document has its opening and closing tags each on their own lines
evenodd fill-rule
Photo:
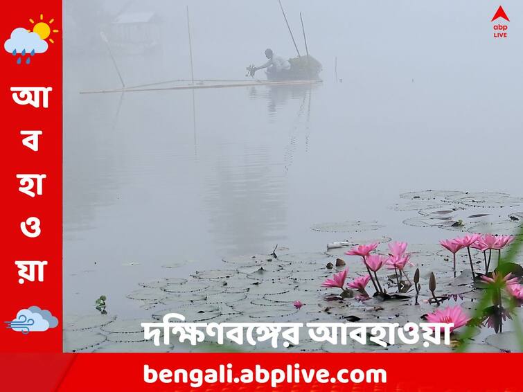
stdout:
<svg viewBox="0 0 523 392">
<path fill-rule="evenodd" d="M 112 314 L 136 314 L 125 294 L 139 282 L 348 237 L 310 229 L 321 222 L 377 220 L 386 227 L 363 236 L 411 242 L 452 235 L 402 224 L 412 213 L 389 207 L 403 192 L 523 196 L 522 112 L 493 96 L 508 76 L 484 78 L 489 69 L 360 70 L 341 83 L 327 69 L 314 87 L 80 95 L 114 75 L 107 59 L 66 62 L 66 314 L 92 312 L 100 294 Z"/>
</svg>

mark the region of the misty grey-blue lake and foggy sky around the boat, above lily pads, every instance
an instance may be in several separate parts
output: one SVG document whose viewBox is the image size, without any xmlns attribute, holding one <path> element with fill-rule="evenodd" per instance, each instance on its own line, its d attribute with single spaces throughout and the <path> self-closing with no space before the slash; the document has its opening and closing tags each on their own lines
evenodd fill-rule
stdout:
<svg viewBox="0 0 523 392">
<path fill-rule="evenodd" d="M 189 79 L 186 3 L 65 1 L 64 314 L 96 312 L 100 294 L 111 314 L 146 314 L 126 298 L 140 282 L 276 244 L 455 234 L 403 224 L 416 211 L 391 208 L 402 193 L 523 197 L 523 25 L 494 41 L 492 3 L 283 1 L 301 51 L 303 13 L 321 83 L 80 94 L 121 87 L 100 31 L 124 12 L 153 13 L 158 40 L 112 49 L 125 84 Z M 189 10 L 197 79 L 250 80 L 268 47 L 296 56 L 277 1 Z M 380 227 L 312 230 L 356 220 Z"/>
</svg>

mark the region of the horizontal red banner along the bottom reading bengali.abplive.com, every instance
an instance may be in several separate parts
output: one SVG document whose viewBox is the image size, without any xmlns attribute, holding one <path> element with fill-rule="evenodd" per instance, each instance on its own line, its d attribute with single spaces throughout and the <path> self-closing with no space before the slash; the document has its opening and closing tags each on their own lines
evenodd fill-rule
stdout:
<svg viewBox="0 0 523 392">
<path fill-rule="evenodd" d="M 517 377 L 520 356 L 421 353 L 64 354 L 3 357 L 2 366 L 3 373 L 9 375 L 3 385 L 23 391 L 272 391 L 277 388 L 280 391 L 509 392 L 521 391 Z M 231 364 L 231 382 L 227 382 L 228 364 Z M 299 364 L 299 380 L 296 381 L 292 375 L 294 379 L 288 382 L 288 367 L 294 371 L 296 364 Z M 149 372 L 144 371 L 145 366 Z M 488 371 L 479 371 L 482 367 Z M 244 369 L 253 371 L 256 376 L 256 368 L 259 369 L 259 382 L 235 382 Z M 347 382 L 351 378 L 347 372 L 339 373 L 338 377 L 340 369 L 350 372 L 376 368 L 383 368 L 386 377 L 377 380 L 371 377 L 370 382 L 365 377 L 358 378 L 358 374 L 353 377 L 354 381 Z M 179 383 L 172 382 L 174 377 L 169 372 L 175 369 L 186 369 L 186 382 L 182 380 L 183 375 L 180 375 Z M 317 377 L 321 369 L 328 371 L 328 376 Z M 204 381 L 205 372 L 212 373 L 209 370 L 216 371 L 216 382 Z M 153 371 L 157 374 L 156 379 Z M 161 371 L 163 381 L 159 377 Z M 333 377 L 335 380 L 331 380 Z M 24 380 L 24 389 L 20 389 L 20 380 Z"/>
</svg>

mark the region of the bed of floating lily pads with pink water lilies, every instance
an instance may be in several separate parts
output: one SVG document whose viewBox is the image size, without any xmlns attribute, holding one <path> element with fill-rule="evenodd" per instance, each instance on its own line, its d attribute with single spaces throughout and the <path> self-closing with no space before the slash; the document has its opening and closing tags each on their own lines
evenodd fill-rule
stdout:
<svg viewBox="0 0 523 392">
<path fill-rule="evenodd" d="M 523 269 L 510 263 L 498 268 L 498 258 L 502 254 L 504 257 L 505 247 L 515 238 L 502 234 L 514 234 L 523 224 L 521 207 L 515 211 L 507 210 L 508 206 L 520 203 L 520 199 L 504 193 L 472 194 L 447 190 L 404 193 L 400 197 L 407 207 L 401 209 L 398 204 L 394 209 L 417 211 L 416 216 L 405 220 L 405 224 L 475 234 L 462 234 L 445 242 L 458 243 L 456 248 L 437 243 L 408 244 L 407 247 L 407 243 L 391 242 L 387 236 L 365 238 L 364 234 L 355 234 L 341 241 L 340 238 L 333 238 L 330 244 L 336 244 L 336 247 L 330 247 L 326 252 L 294 252 L 276 246 L 268 254 L 227 256 L 222 260 L 223 269 L 202 269 L 194 271 L 188 278 L 165 277 L 139 283 L 139 287 L 127 294 L 127 298 L 136 301 L 147 313 L 143 319 L 121 320 L 102 314 L 67 318 L 64 322 L 64 336 L 69 339 L 66 350 L 274 351 L 268 344 L 256 347 L 219 346 L 212 337 L 206 337 L 204 344 L 196 347 L 178 343 L 174 347 L 156 347 L 150 341 L 143 341 L 140 323 L 160 321 L 169 312 L 183 314 L 188 322 L 217 323 L 418 323 L 423 319 L 454 317 L 456 326 L 461 327 L 456 327 L 457 331 L 453 332 L 454 344 L 460 345 L 463 339 L 474 337 L 475 343 L 470 346 L 472 351 L 513 350 L 517 346 L 514 334 L 502 331 L 502 323 L 506 322 L 504 317 L 508 315 L 520 317 L 518 308 L 508 307 L 508 299 L 523 297 L 523 288 L 519 286 Z M 416 208 L 411 208 L 413 206 Z M 481 207 L 490 209 L 476 209 Z M 358 233 L 381 227 L 375 221 L 346 221 L 317 224 L 313 230 Z M 497 235 L 489 237 L 477 233 Z M 523 252 L 516 257 L 523 260 Z M 175 265 L 179 263 L 173 263 L 172 268 Z M 502 294 L 502 300 L 489 303 L 481 318 L 473 318 L 472 312 L 491 284 L 488 278 L 497 281 L 494 273 L 506 277 L 509 272 L 512 275 L 507 280 L 516 279 L 511 281 L 517 284 L 513 287 L 513 294 Z M 523 298 L 517 301 L 520 301 L 519 305 Z M 456 307 L 459 307 L 459 312 L 452 310 Z M 465 325 L 472 324 L 475 329 L 463 336 L 461 332 L 468 328 Z M 486 328 L 478 328 L 481 325 Z M 78 336 L 76 332 L 78 335 L 86 332 L 86 336 L 72 344 L 71 339 Z M 398 343 L 383 348 L 362 346 L 354 341 L 347 346 L 333 346 L 319 344 L 302 335 L 298 346 L 278 348 L 278 351 L 281 350 L 292 353 L 416 352 L 449 351 L 452 348 L 425 348 L 422 344 L 402 346 Z"/>
</svg>

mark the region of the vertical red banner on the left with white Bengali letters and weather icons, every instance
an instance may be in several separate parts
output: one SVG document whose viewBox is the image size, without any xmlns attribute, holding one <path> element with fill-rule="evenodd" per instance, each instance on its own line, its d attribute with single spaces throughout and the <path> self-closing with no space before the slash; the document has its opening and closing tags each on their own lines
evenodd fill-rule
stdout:
<svg viewBox="0 0 523 392">
<path fill-rule="evenodd" d="M 60 353 L 62 4 L 28 0 L 4 10 L 0 284 L 1 321 L 12 328 L 0 328 L 0 341 L 3 351 Z M 46 331 L 25 333 L 24 319 Z"/>
</svg>

